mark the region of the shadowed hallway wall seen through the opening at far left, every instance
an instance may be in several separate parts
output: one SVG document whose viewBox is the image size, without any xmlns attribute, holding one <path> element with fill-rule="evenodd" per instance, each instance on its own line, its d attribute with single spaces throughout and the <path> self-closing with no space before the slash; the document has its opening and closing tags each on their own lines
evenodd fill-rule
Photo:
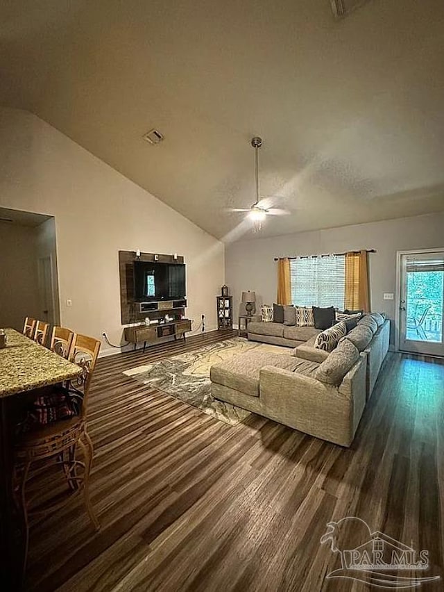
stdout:
<svg viewBox="0 0 444 592">
<path fill-rule="evenodd" d="M 22 331 L 38 315 L 35 247 L 34 228 L 0 222 L 0 327 Z"/>
</svg>

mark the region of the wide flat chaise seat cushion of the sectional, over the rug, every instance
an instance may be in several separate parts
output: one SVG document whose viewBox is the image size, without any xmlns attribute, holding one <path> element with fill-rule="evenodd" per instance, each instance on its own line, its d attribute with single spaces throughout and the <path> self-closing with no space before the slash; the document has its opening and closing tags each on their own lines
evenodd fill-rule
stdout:
<svg viewBox="0 0 444 592">
<path fill-rule="evenodd" d="M 269 323 L 267 323 L 269 324 Z M 230 360 L 213 364 L 210 370 L 212 382 L 227 386 L 251 397 L 259 397 L 259 371 L 271 365 L 293 372 L 301 360 L 294 356 L 270 352 L 247 352 Z"/>
</svg>

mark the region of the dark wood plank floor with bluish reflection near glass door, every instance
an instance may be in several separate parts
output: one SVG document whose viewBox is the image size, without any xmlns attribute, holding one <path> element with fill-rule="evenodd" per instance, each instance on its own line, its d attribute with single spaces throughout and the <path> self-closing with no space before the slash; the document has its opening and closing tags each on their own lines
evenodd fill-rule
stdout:
<svg viewBox="0 0 444 592">
<path fill-rule="evenodd" d="M 35 524 L 27 589 L 367 590 L 325 579 L 339 555 L 319 541 L 345 516 L 428 549 L 422 575 L 442 577 L 444 365 L 388 354 L 350 449 L 258 416 L 230 427 L 122 374 L 219 338 L 99 361 L 89 433 L 101 532 L 80 500 Z"/>
</svg>

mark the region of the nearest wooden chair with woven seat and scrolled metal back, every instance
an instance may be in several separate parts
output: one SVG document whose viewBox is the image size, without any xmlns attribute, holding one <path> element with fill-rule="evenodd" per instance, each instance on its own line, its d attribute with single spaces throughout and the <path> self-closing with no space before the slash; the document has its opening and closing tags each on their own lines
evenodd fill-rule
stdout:
<svg viewBox="0 0 444 592">
<path fill-rule="evenodd" d="M 72 341 L 68 359 L 80 365 L 83 372 L 76 379 L 68 381 L 64 387 L 57 386 L 51 392 L 51 394 L 59 393 L 60 397 L 67 397 L 67 400 L 75 402 L 80 409 L 78 415 L 47 425 L 37 424 L 36 427 L 19 434 L 16 438 L 13 491 L 26 527 L 23 573 L 26 571 L 31 516 L 44 515 L 63 507 L 73 495 L 83 492 L 89 519 L 96 530 L 100 528 L 89 500 L 89 473 L 92 467 L 93 447 L 86 429 L 87 397 L 100 346 L 99 340 L 76 335 Z M 82 461 L 76 459 L 78 447 L 83 453 Z M 31 502 L 37 497 L 38 492 L 30 499 L 26 499 L 26 483 L 39 472 L 46 470 L 48 463 L 42 464 L 42 461 L 55 461 L 58 466 L 61 466 L 69 488 L 62 500 L 49 502 L 44 507 L 33 508 Z M 39 462 L 39 467 L 30 474 L 31 465 L 36 462 Z M 79 469 L 80 474 L 78 474 Z"/>
</svg>

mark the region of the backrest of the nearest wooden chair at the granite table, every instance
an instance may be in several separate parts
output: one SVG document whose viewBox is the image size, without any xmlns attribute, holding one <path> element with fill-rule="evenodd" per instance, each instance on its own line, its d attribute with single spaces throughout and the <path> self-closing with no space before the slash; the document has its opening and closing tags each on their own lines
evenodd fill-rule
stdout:
<svg viewBox="0 0 444 592">
<path fill-rule="evenodd" d="M 83 402 L 80 416 L 83 419 L 86 418 L 89 385 L 91 384 L 92 373 L 96 366 L 100 347 L 101 342 L 98 339 L 76 334 L 71 345 L 71 350 L 69 351 L 69 361 L 79 365 L 83 370 L 80 376 L 69 381 L 71 388 L 76 390 L 77 393 L 82 394 Z"/>
</svg>

